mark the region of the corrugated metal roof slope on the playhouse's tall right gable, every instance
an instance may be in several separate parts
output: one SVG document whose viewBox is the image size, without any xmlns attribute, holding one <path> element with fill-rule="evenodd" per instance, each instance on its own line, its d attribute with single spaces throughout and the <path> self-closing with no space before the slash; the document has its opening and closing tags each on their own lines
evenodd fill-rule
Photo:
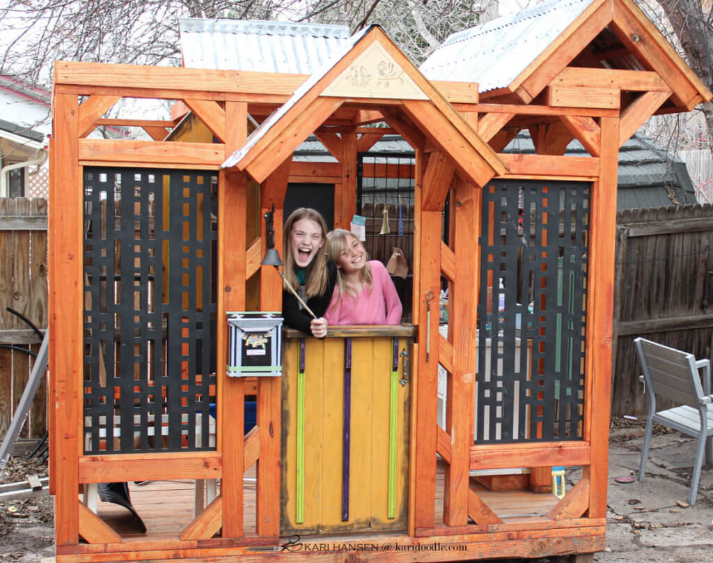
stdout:
<svg viewBox="0 0 713 563">
<path fill-rule="evenodd" d="M 429 80 L 510 85 L 595 0 L 553 0 L 448 36 L 420 66 Z"/>
</svg>

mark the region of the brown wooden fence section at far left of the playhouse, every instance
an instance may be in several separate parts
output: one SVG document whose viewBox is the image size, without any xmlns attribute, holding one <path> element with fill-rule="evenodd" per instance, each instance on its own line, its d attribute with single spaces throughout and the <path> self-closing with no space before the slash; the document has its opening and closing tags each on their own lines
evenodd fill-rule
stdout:
<svg viewBox="0 0 713 563">
<path fill-rule="evenodd" d="M 37 328 L 47 327 L 47 201 L 0 198 L 0 437 L 5 435 L 29 379 L 39 338 L 16 310 Z M 12 345 L 16 348 L 7 348 Z M 21 438 L 47 430 L 47 385 L 41 385 Z"/>
</svg>

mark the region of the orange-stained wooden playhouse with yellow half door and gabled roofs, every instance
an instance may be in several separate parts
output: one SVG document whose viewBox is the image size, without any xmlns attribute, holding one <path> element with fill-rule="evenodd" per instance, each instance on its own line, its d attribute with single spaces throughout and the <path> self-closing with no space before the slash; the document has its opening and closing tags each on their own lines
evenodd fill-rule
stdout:
<svg viewBox="0 0 713 563">
<path fill-rule="evenodd" d="M 310 74 L 56 63 L 59 563 L 604 549 L 617 151 L 711 93 L 630 0 L 525 16 L 457 34 L 421 69 L 376 26 Z M 103 118 L 120 98 L 190 114 Z M 101 125 L 155 140 L 88 138 Z M 537 154 L 501 153 L 523 128 Z M 293 158 L 313 133 L 332 161 Z M 414 158 L 360 166 L 386 133 Z M 590 156 L 562 156 L 572 139 Z M 228 377 L 227 313 L 281 308 L 260 261 L 273 206 L 282 253 L 288 185 L 322 186 L 349 228 L 360 182 L 401 175 L 412 322 L 284 330 L 281 375 Z M 564 495 L 553 467 L 576 481 Z M 96 501 L 124 482 L 143 533 Z"/>
</svg>

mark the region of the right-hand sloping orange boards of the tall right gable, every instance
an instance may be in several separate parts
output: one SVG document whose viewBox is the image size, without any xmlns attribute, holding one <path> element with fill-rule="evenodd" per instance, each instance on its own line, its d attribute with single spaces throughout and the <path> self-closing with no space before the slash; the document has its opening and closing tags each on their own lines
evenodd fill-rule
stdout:
<svg viewBox="0 0 713 563">
<path fill-rule="evenodd" d="M 649 70 L 659 73 L 671 89 L 676 106 L 691 111 L 697 96 L 706 100 L 713 96 L 631 0 L 615 1 L 613 16 L 612 31 Z M 637 41 L 633 41 L 632 37 Z"/>
</svg>

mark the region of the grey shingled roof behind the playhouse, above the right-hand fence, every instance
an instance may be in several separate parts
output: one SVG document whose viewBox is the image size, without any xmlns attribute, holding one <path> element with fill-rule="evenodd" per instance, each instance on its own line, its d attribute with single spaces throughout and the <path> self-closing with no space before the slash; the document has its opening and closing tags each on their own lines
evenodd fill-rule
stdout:
<svg viewBox="0 0 713 563">
<path fill-rule="evenodd" d="M 398 135 L 384 135 L 369 153 L 413 155 L 414 150 Z M 535 154 L 530 133 L 520 131 L 503 153 Z M 579 141 L 572 141 L 565 153 L 586 156 Z M 294 151 L 294 161 L 337 162 L 319 140 L 310 136 Z M 617 211 L 696 203 L 695 188 L 686 165 L 656 146 L 643 135 L 635 134 L 619 149 Z"/>
</svg>

